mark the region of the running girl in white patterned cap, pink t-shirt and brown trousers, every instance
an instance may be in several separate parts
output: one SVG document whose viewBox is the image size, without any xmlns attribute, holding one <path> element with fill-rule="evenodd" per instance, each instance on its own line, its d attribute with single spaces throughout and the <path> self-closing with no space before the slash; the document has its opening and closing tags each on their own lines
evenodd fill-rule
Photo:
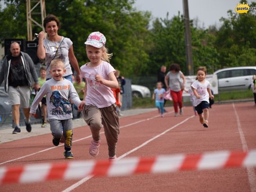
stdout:
<svg viewBox="0 0 256 192">
<path fill-rule="evenodd" d="M 100 32 L 93 32 L 87 38 L 86 54 L 90 62 L 83 65 L 81 75 L 86 80 L 83 101 L 79 106 L 83 118 L 90 126 L 92 141 L 89 152 L 97 156 L 101 143 L 100 130 L 104 127 L 109 160 L 115 160 L 116 146 L 119 135 L 119 117 L 116 110 L 116 100 L 110 88 L 118 88 L 114 75 L 115 69 L 110 65 L 106 47 L 106 38 Z"/>
</svg>

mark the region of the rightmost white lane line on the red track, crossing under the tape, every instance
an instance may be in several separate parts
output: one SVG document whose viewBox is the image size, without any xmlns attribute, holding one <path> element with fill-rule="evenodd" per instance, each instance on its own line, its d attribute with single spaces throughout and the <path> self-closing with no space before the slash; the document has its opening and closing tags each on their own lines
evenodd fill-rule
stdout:
<svg viewBox="0 0 256 192">
<path fill-rule="evenodd" d="M 242 130 L 240 119 L 239 119 L 237 110 L 235 108 L 235 104 L 232 103 L 232 105 L 233 105 L 233 109 L 235 111 L 235 115 L 236 115 L 236 118 L 237 118 L 238 131 L 239 131 L 239 135 L 240 135 L 240 140 L 242 142 L 243 151 L 247 152 L 248 151 L 248 146 L 247 146 L 247 142 L 246 142 L 246 139 L 245 139 L 244 132 Z M 247 175 L 248 175 L 248 180 L 249 180 L 251 192 L 256 192 L 256 175 L 255 175 L 253 167 L 247 167 Z"/>
</svg>

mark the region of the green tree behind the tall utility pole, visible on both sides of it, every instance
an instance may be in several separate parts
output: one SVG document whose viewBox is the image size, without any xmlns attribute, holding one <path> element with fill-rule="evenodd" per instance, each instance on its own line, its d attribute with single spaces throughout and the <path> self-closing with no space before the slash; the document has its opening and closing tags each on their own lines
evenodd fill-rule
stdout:
<svg viewBox="0 0 256 192">
<path fill-rule="evenodd" d="M 153 58 L 151 72 L 156 73 L 162 65 L 167 67 L 178 63 L 183 73 L 187 73 L 185 29 L 183 16 L 178 13 L 172 19 L 156 19 L 153 23 L 154 48 L 151 52 Z M 206 66 L 209 73 L 213 73 L 219 63 L 219 54 L 214 47 L 214 34 L 208 30 L 193 27 L 191 21 L 192 57 L 194 71 L 199 66 Z M 153 67 L 155 66 L 155 67 Z M 149 70 L 150 70 L 149 69 Z"/>
</svg>

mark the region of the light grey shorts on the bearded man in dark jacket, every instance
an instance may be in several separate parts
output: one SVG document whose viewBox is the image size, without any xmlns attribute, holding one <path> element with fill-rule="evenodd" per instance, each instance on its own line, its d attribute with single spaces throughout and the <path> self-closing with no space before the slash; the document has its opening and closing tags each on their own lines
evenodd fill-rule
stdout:
<svg viewBox="0 0 256 192">
<path fill-rule="evenodd" d="M 9 86 L 8 95 L 11 105 L 20 105 L 25 109 L 30 108 L 30 92 L 29 86 Z"/>
</svg>

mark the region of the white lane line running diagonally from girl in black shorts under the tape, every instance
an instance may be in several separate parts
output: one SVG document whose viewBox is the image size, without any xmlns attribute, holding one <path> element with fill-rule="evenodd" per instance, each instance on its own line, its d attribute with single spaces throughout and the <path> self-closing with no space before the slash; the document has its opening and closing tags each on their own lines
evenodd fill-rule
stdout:
<svg viewBox="0 0 256 192">
<path fill-rule="evenodd" d="M 157 117 L 159 117 L 159 116 L 157 116 Z M 177 126 L 179 126 L 179 125 L 185 123 L 187 120 L 191 119 L 192 117 L 195 117 L 195 116 L 193 115 L 193 116 L 191 116 L 191 117 L 188 117 L 188 118 L 186 118 L 185 120 L 183 120 L 182 122 L 180 122 L 180 123 L 178 123 L 178 124 L 176 124 L 176 125 L 170 127 L 169 129 L 166 129 L 166 130 L 165 130 L 164 132 L 162 132 L 161 134 L 156 135 L 155 137 L 153 137 L 153 138 L 147 140 L 146 142 L 142 143 L 142 144 L 139 145 L 138 147 L 136 147 L 136 148 L 134 148 L 134 149 L 132 149 L 132 150 L 130 150 L 130 151 L 124 153 L 124 154 L 121 155 L 121 156 L 119 156 L 119 158 L 118 158 L 117 160 L 122 159 L 122 158 L 128 156 L 130 153 L 132 153 L 132 152 L 134 152 L 134 151 L 136 151 L 136 150 L 138 150 L 138 149 L 144 147 L 144 146 L 145 146 L 146 144 L 148 144 L 149 142 L 154 141 L 155 139 L 157 139 L 158 137 L 160 137 L 160 136 L 166 134 L 167 132 L 171 131 L 171 130 L 174 129 L 175 127 L 177 127 Z M 91 179 L 93 176 L 94 176 L 94 175 L 89 175 L 89 176 L 87 176 L 87 177 L 84 177 L 82 180 L 80 180 L 80 181 L 78 181 L 77 183 L 71 185 L 70 187 L 68 187 L 67 189 L 63 190 L 62 192 L 70 192 L 70 191 L 72 191 L 73 189 L 77 188 L 79 185 L 81 185 L 81 184 L 85 183 L 86 181 L 88 181 L 89 179 Z"/>
</svg>

